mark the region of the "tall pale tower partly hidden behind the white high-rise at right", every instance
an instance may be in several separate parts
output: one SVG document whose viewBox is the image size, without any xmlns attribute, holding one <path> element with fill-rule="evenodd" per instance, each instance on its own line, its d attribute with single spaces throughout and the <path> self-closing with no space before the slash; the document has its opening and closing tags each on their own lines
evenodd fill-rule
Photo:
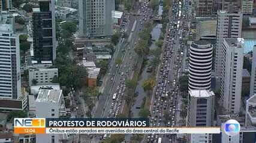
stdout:
<svg viewBox="0 0 256 143">
<path fill-rule="evenodd" d="M 227 13 L 218 11 L 217 39 L 215 50 L 215 76 L 221 77 L 222 43 L 224 38 L 241 38 L 242 36 L 242 13 Z M 217 79 L 219 80 L 219 79 Z"/>
</svg>

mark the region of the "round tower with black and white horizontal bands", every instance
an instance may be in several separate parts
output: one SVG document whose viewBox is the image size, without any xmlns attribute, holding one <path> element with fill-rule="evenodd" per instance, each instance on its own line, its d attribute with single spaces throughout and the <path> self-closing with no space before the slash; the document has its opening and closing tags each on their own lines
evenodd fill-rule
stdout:
<svg viewBox="0 0 256 143">
<path fill-rule="evenodd" d="M 189 48 L 188 89 L 210 89 L 213 47 L 207 41 L 195 41 Z"/>
</svg>

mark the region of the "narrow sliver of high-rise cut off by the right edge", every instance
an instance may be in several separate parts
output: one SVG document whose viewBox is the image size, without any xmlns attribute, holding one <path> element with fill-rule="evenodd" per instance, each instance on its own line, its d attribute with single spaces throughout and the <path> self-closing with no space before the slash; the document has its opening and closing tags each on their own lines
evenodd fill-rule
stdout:
<svg viewBox="0 0 256 143">
<path fill-rule="evenodd" d="M 256 94 L 256 45 L 252 50 L 252 70 L 250 79 L 250 97 Z"/>
</svg>

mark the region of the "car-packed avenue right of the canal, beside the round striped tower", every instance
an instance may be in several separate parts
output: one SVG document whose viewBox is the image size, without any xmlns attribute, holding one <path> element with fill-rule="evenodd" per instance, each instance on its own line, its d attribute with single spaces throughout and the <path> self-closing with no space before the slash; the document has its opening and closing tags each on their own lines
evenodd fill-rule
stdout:
<svg viewBox="0 0 256 143">
<path fill-rule="evenodd" d="M 182 74 L 183 47 L 180 18 L 181 2 L 173 3 L 167 34 L 165 35 L 162 63 L 159 66 L 156 87 L 153 93 L 153 106 L 150 108 L 150 126 L 176 126 L 177 98 L 179 96 L 179 77 Z M 147 142 L 162 142 L 163 135 L 147 135 Z M 173 141 L 173 135 L 165 135 L 167 141 Z"/>
</svg>

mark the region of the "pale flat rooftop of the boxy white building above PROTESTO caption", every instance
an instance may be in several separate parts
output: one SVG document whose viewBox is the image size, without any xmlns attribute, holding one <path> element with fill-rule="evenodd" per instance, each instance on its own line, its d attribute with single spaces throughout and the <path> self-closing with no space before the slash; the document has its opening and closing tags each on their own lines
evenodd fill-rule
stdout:
<svg viewBox="0 0 256 143">
<path fill-rule="evenodd" d="M 40 89 L 36 102 L 59 102 L 62 90 Z"/>
</svg>

